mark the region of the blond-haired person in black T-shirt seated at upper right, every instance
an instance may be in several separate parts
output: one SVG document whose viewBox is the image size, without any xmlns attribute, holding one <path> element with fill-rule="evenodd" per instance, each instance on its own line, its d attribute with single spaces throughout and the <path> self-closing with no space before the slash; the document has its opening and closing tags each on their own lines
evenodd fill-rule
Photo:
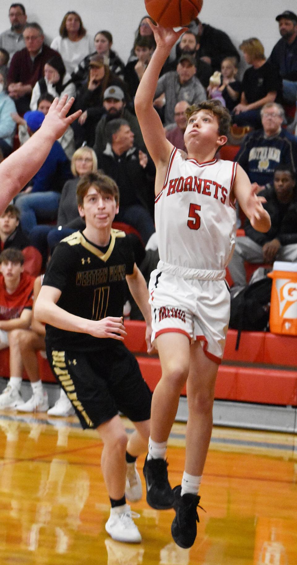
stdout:
<svg viewBox="0 0 297 565">
<path fill-rule="evenodd" d="M 233 123 L 261 128 L 261 107 L 276 101 L 281 93 L 281 80 L 266 60 L 264 46 L 259 39 L 251 37 L 244 40 L 239 49 L 251 67 L 243 75 L 241 101 L 233 110 Z"/>
</svg>

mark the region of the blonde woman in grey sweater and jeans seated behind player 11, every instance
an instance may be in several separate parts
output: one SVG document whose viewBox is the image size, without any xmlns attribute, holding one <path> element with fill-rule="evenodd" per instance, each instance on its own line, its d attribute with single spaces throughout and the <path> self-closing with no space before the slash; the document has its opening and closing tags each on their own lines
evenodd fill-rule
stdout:
<svg viewBox="0 0 297 565">
<path fill-rule="evenodd" d="M 97 157 L 91 147 L 79 147 L 71 159 L 73 179 L 65 182 L 59 202 L 56 227 L 53 225 L 37 225 L 30 232 L 30 244 L 40 251 L 43 263 L 46 263 L 48 251 L 64 237 L 77 231 L 81 226 L 76 202 L 76 187 L 80 178 L 87 173 L 97 171 Z"/>
</svg>

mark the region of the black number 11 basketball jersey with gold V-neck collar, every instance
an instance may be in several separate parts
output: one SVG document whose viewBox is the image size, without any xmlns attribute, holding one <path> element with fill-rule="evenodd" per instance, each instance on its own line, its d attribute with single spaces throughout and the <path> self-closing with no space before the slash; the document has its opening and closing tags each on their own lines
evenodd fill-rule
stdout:
<svg viewBox="0 0 297 565">
<path fill-rule="evenodd" d="M 75 232 L 56 247 L 43 285 L 62 292 L 57 305 L 63 310 L 81 318 L 101 320 L 123 315 L 125 276 L 132 275 L 133 268 L 134 254 L 124 232 L 112 229 L 110 243 L 104 248 Z M 88 351 L 115 344 L 112 339 L 69 332 L 49 324 L 46 340 L 58 350 Z"/>
</svg>

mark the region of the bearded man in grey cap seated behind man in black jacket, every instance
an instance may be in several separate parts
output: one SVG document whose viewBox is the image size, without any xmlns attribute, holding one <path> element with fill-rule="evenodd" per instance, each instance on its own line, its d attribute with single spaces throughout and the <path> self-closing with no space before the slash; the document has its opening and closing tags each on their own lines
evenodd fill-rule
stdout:
<svg viewBox="0 0 297 565">
<path fill-rule="evenodd" d="M 97 155 L 103 153 L 107 144 L 106 124 L 108 121 L 117 118 L 123 118 L 128 121 L 131 131 L 134 133 L 134 144 L 142 151 L 146 151 L 138 120 L 136 116 L 126 108 L 125 94 L 120 86 L 112 85 L 104 90 L 103 108 L 106 113 L 102 116 L 101 120 L 98 121 L 95 130 L 95 144 L 93 147 L 95 153 Z"/>
</svg>

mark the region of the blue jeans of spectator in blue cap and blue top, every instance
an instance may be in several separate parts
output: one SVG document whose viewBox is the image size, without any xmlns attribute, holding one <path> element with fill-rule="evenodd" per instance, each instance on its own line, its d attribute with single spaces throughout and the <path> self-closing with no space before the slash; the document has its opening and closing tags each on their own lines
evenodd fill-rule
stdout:
<svg viewBox="0 0 297 565">
<path fill-rule="evenodd" d="M 58 192 L 32 192 L 19 194 L 15 205 L 21 212 L 21 227 L 27 233 L 37 225 L 38 221 L 56 220 L 61 195 Z"/>
</svg>

